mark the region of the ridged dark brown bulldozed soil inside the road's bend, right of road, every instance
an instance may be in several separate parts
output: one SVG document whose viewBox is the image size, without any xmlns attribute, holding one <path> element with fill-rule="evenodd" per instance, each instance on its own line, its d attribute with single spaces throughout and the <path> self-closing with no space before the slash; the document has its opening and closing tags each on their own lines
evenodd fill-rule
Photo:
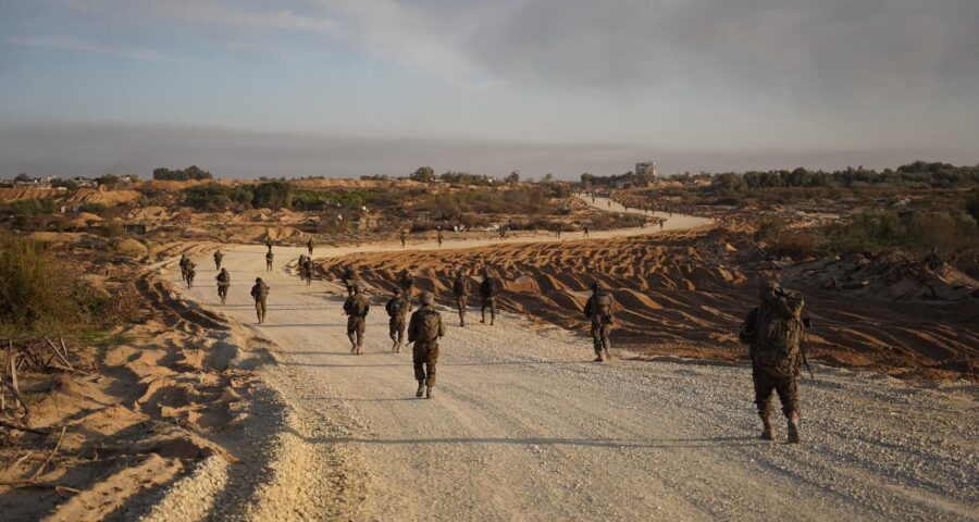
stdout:
<svg viewBox="0 0 979 522">
<path fill-rule="evenodd" d="M 401 269 L 408 269 L 420 289 L 435 291 L 449 304 L 453 270 L 467 269 L 475 287 L 475 274 L 488 265 L 504 283 L 503 308 L 582 333 L 587 325 L 581 310 L 588 285 L 597 279 L 621 307 L 615 345 L 645 356 L 740 360 L 746 359 L 746 348 L 736 333 L 755 306 L 763 275 L 754 270 L 757 263 L 742 262 L 749 252 L 746 245 L 735 248 L 728 243 L 741 232 L 370 253 L 329 260 L 322 269 L 327 277 L 338 278 L 352 263 L 363 279 L 384 291 L 394 288 Z M 798 289 L 807 297 L 814 321 L 806 343 L 810 359 L 912 378 L 975 378 L 979 366 L 975 299 L 882 303 L 841 291 Z M 472 296 L 471 304 L 476 301 Z"/>
</svg>

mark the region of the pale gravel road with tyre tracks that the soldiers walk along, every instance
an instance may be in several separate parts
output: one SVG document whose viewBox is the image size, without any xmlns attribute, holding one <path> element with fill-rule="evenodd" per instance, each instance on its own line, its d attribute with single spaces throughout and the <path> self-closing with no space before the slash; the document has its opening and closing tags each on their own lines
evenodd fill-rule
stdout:
<svg viewBox="0 0 979 522">
<path fill-rule="evenodd" d="M 678 216 L 667 228 L 691 224 Z M 448 246 L 476 243 L 492 241 Z M 416 399 L 410 353 L 388 352 L 380 299 L 367 352 L 349 355 L 338 287 L 308 287 L 282 270 L 301 251 L 276 248 L 276 270 L 265 273 L 263 247 L 227 250 L 235 286 L 225 306 L 210 259 L 197 260 L 198 286 L 181 290 L 275 344 L 280 364 L 269 380 L 312 425 L 290 435 L 299 449 L 280 464 L 298 471 L 274 475 L 271 493 L 255 498 L 223 495 L 248 509 L 212 518 L 977 520 L 972 386 L 920 388 L 820 369 L 803 384 L 804 444 L 769 444 L 755 438 L 747 368 L 631 361 L 621 352 L 594 364 L 585 362 L 590 344 L 572 333 L 534 331 L 512 315 L 460 328 L 445 313 L 438 396 Z M 162 276 L 178 286 L 172 270 Z M 262 326 L 248 297 L 256 276 L 271 286 Z M 340 427 L 318 427 L 317 419 Z M 331 489 L 322 470 L 307 465 L 337 451 L 356 490 Z"/>
</svg>

